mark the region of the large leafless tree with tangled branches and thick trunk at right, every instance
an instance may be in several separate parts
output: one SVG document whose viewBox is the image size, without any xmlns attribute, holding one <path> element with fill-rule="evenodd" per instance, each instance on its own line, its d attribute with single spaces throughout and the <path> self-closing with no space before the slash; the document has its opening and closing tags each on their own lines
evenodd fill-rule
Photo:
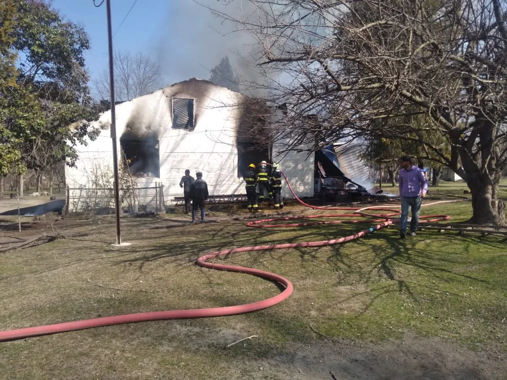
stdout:
<svg viewBox="0 0 507 380">
<path fill-rule="evenodd" d="M 504 0 L 248 1 L 255 12 L 242 19 L 214 13 L 262 47 L 259 65 L 275 75 L 270 100 L 289 105 L 286 130 L 299 136 L 287 148 L 410 139 L 421 159 L 466 181 L 472 222 L 506 224 L 497 199 L 507 166 Z"/>
</svg>

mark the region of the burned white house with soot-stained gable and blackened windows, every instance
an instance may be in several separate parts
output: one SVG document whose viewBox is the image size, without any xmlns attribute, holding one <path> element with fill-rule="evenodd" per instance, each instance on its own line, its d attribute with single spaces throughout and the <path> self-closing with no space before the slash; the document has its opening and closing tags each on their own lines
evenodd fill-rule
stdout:
<svg viewBox="0 0 507 380">
<path fill-rule="evenodd" d="M 284 152 L 276 119 L 280 107 L 233 92 L 209 81 L 190 79 L 116 106 L 116 136 L 122 204 L 155 208 L 183 195 L 179 180 L 186 169 L 201 171 L 210 195 L 244 194 L 242 172 L 250 163 L 279 162 L 298 197 L 313 195 L 313 157 Z M 76 167 L 66 168 L 68 208 L 112 204 L 113 144 L 111 111 L 95 127 L 99 136 L 77 146 Z M 283 157 L 283 158 L 282 158 Z M 137 187 L 137 202 L 127 185 Z M 157 191 L 154 188 L 157 187 Z M 292 197 L 287 186 L 284 197 Z"/>
</svg>

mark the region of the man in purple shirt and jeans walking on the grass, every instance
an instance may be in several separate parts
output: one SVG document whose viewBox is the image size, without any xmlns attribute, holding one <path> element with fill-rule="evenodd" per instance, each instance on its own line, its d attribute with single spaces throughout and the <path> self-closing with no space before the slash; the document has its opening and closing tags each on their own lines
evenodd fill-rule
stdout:
<svg viewBox="0 0 507 380">
<path fill-rule="evenodd" d="M 419 223 L 419 212 L 421 202 L 428 192 L 428 180 L 421 168 L 412 165 L 412 157 L 403 156 L 400 162 L 400 198 L 402 200 L 402 215 L 400 217 L 400 237 L 407 236 L 407 220 L 409 208 L 412 208 L 412 219 L 410 220 L 410 236 L 415 236 L 417 224 Z"/>
</svg>

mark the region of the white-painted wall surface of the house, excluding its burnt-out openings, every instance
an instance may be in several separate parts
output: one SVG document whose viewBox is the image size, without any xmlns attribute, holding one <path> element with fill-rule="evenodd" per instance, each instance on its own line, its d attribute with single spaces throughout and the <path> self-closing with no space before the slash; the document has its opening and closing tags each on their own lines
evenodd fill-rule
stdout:
<svg viewBox="0 0 507 380">
<path fill-rule="evenodd" d="M 196 124 L 193 131 L 172 129 L 171 97 L 196 98 Z M 116 135 L 118 161 L 121 162 L 120 137 L 127 126 L 142 130 L 151 129 L 159 136 L 160 177 L 138 178 L 140 187 L 164 185 L 166 203 L 175 196 L 183 196 L 179 180 L 190 169 L 195 177 L 203 173 L 210 195 L 244 194 L 244 182 L 238 178 L 236 131 L 244 96 L 207 81 L 191 80 L 157 90 L 152 94 L 133 99 L 116 106 Z M 71 188 L 97 187 L 97 172 L 106 183 L 113 184 L 112 139 L 110 134 L 111 112 L 104 112 L 95 126 L 101 133 L 88 145 L 77 146 L 79 160 L 76 168 L 66 168 L 66 183 Z M 273 157 L 282 149 L 282 142 L 275 144 Z M 289 153 L 280 161 L 284 174 L 291 181 L 299 197 L 313 195 L 313 155 L 305 161 L 306 153 Z M 107 182 L 107 180 L 109 182 Z M 95 182 L 95 183 L 94 183 Z M 154 191 L 151 191 L 154 195 Z M 71 191 L 71 198 L 82 191 Z M 283 196 L 292 197 L 287 186 Z M 151 200 L 154 202 L 154 199 Z M 73 209 L 72 202 L 70 209 Z M 74 205 L 75 206 L 75 205 Z"/>
</svg>

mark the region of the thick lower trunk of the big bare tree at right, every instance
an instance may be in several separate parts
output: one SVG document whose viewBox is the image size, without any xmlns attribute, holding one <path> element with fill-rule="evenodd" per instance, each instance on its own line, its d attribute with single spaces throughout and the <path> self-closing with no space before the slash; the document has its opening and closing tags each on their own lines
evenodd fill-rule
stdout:
<svg viewBox="0 0 507 380">
<path fill-rule="evenodd" d="M 496 187 L 498 185 L 480 181 L 467 182 L 467 185 L 472 193 L 473 216 L 470 222 L 507 225 L 505 204 L 500 199 L 496 199 Z"/>
</svg>

